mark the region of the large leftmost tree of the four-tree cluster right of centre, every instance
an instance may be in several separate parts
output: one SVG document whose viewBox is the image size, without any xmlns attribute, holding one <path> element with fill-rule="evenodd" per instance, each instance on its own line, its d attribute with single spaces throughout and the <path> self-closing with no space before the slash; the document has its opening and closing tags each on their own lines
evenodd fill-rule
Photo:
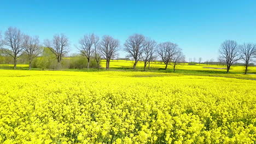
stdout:
<svg viewBox="0 0 256 144">
<path fill-rule="evenodd" d="M 136 64 L 139 59 L 141 59 L 141 54 L 143 52 L 145 37 L 142 34 L 133 34 L 131 35 L 124 44 L 125 51 L 128 53 L 128 56 L 134 58 L 133 69 L 136 68 Z"/>
</svg>

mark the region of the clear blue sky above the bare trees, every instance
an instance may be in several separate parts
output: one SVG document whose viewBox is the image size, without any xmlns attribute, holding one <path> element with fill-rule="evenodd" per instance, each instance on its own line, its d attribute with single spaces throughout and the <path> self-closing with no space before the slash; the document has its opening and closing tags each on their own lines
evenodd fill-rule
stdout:
<svg viewBox="0 0 256 144">
<path fill-rule="evenodd" d="M 141 33 L 177 43 L 187 60 L 206 61 L 217 59 L 226 39 L 256 43 L 256 1 L 1 1 L 2 34 L 9 26 L 42 42 L 64 33 L 71 52 L 84 34 L 112 35 L 123 47 Z"/>
</svg>

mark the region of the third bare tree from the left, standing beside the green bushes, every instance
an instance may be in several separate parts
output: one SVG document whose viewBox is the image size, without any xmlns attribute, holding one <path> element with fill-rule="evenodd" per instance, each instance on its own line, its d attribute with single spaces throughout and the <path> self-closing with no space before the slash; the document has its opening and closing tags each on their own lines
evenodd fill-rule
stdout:
<svg viewBox="0 0 256 144">
<path fill-rule="evenodd" d="M 62 57 L 68 52 L 69 40 L 67 36 L 64 34 L 56 34 L 54 35 L 53 40 L 45 40 L 44 45 L 54 53 L 58 66 L 60 67 Z"/>
</svg>

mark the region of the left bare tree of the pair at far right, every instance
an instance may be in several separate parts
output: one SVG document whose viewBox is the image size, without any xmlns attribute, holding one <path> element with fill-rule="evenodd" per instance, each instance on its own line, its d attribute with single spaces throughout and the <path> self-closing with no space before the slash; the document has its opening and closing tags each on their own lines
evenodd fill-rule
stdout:
<svg viewBox="0 0 256 144">
<path fill-rule="evenodd" d="M 219 53 L 219 61 L 226 63 L 226 73 L 229 73 L 231 65 L 240 59 L 236 41 L 225 40 L 220 46 Z"/>
</svg>

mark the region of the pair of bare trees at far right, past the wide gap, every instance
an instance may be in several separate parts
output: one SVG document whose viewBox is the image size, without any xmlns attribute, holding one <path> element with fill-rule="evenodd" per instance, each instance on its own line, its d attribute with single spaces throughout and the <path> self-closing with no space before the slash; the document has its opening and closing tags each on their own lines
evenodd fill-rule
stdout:
<svg viewBox="0 0 256 144">
<path fill-rule="evenodd" d="M 229 73 L 232 64 L 241 60 L 245 63 L 245 74 L 247 74 L 249 63 L 256 58 L 256 44 L 238 45 L 235 40 L 225 40 L 220 46 L 219 53 L 219 62 L 226 64 L 226 73 Z"/>
</svg>

